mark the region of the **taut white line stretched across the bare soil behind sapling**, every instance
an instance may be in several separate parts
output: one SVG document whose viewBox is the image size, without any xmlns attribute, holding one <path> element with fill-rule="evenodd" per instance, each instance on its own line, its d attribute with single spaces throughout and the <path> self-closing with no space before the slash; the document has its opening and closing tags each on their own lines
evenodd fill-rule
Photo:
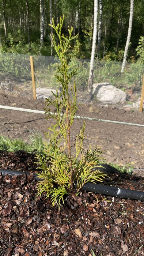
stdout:
<svg viewBox="0 0 144 256">
<path fill-rule="evenodd" d="M 24 112 L 31 112 L 31 113 L 38 113 L 38 114 L 45 114 L 45 111 L 34 110 L 34 109 L 15 108 L 15 107 L 3 106 L 3 105 L 0 105 L 0 108 L 1 109 L 18 110 L 18 111 L 24 111 Z M 50 112 L 50 114 L 54 114 L 54 113 Z M 144 127 L 143 124 L 132 124 L 132 123 L 104 120 L 104 119 L 100 119 L 100 118 L 91 118 L 91 117 L 85 117 L 85 116 L 75 116 L 75 118 L 76 119 L 91 120 L 91 121 L 106 122 L 106 123 L 113 123 L 113 124 L 125 124 L 125 125 L 135 125 L 135 126 Z"/>
</svg>

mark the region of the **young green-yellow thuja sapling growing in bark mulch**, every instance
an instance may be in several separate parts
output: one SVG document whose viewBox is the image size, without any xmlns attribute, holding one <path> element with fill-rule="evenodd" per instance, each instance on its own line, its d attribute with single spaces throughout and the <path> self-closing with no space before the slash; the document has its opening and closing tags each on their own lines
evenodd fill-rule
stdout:
<svg viewBox="0 0 144 256">
<path fill-rule="evenodd" d="M 77 110 L 76 105 L 76 84 L 69 89 L 69 82 L 77 74 L 77 68 L 73 68 L 71 57 L 68 56 L 70 43 L 78 35 L 72 36 L 73 27 L 68 27 L 68 36 L 61 33 L 63 18 L 60 18 L 60 23 L 57 26 L 52 20 L 50 25 L 56 33 L 59 43 L 56 43 L 56 36 L 51 34 L 51 40 L 54 49 L 60 59 L 60 65 L 57 66 L 56 81 L 61 83 L 61 93 L 53 93 L 54 99 L 46 98 L 45 113 L 47 118 L 53 118 L 55 124 L 48 127 L 48 132 L 45 132 L 45 137 L 48 138 L 48 143 L 45 143 L 45 153 L 37 155 L 38 163 L 41 172 L 38 173 L 42 181 L 38 182 L 38 195 L 43 192 L 46 197 L 51 197 L 52 205 L 58 205 L 60 210 L 61 203 L 64 203 L 64 196 L 71 194 L 74 188 L 74 181 L 77 182 L 76 192 L 86 182 L 102 181 L 105 173 L 99 170 L 94 170 L 102 159 L 101 150 L 95 146 L 94 150 L 89 148 L 84 153 L 84 130 L 86 122 L 80 128 L 79 134 L 76 135 L 75 155 L 72 155 L 71 149 L 71 127 Z M 54 106 L 53 113 L 50 106 Z"/>
</svg>

